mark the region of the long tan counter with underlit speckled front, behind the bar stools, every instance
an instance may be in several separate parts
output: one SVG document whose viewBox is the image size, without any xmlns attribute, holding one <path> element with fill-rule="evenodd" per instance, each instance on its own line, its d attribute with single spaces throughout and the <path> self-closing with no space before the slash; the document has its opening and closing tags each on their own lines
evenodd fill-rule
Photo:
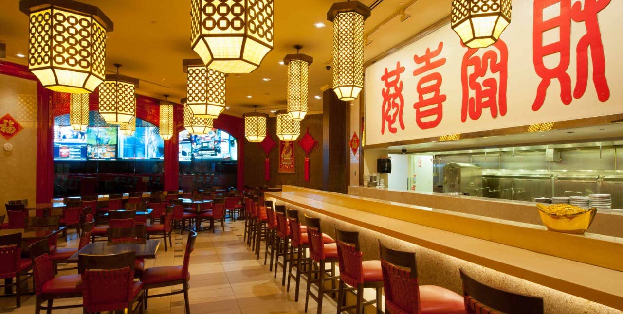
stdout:
<svg viewBox="0 0 623 314">
<path fill-rule="evenodd" d="M 378 258 L 376 239 L 416 251 L 422 284 L 460 292 L 464 268 L 494 286 L 541 295 L 546 313 L 623 309 L 621 238 L 292 186 L 266 197 L 321 216 L 325 233 L 357 229 L 366 259 Z"/>
</svg>

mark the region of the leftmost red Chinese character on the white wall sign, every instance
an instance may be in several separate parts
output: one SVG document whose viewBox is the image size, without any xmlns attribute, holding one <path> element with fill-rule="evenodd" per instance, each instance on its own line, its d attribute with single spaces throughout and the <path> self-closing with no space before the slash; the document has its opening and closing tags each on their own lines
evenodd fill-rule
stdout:
<svg viewBox="0 0 623 314">
<path fill-rule="evenodd" d="M 400 80 L 401 73 L 404 72 L 404 67 L 400 66 L 400 62 L 396 62 L 396 69 L 388 72 L 388 68 L 385 68 L 385 74 L 381 76 L 381 81 L 385 83 L 383 88 L 383 108 L 381 109 L 381 117 L 383 124 L 381 126 L 381 134 L 385 134 L 385 122 L 388 122 L 389 132 L 396 133 L 397 129 L 394 127 L 396 118 L 400 124 L 400 128 L 404 130 L 404 122 L 402 121 L 402 111 L 404 110 L 404 97 L 402 97 L 402 81 Z"/>
</svg>

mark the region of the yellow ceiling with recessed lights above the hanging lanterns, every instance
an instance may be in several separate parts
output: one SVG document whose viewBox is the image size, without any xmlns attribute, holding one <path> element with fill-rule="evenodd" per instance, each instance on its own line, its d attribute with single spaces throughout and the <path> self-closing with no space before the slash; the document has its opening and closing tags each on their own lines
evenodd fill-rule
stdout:
<svg viewBox="0 0 623 314">
<path fill-rule="evenodd" d="M 189 0 L 82 0 L 100 7 L 115 24 L 108 33 L 106 68 L 115 72 L 113 63 L 121 63 L 121 74 L 141 80 L 137 93 L 164 99 L 186 96 L 186 75 L 182 60 L 197 58 L 190 45 Z M 252 111 L 284 109 L 286 99 L 286 70 L 278 62 L 288 53 L 295 53 L 295 44 L 303 45 L 301 53 L 311 55 L 310 111 L 321 112 L 321 88 L 331 85 L 332 24 L 326 21 L 326 11 L 332 0 L 275 0 L 275 42 L 260 68 L 250 74 L 230 75 L 227 78 L 228 114 L 237 116 Z M 362 1 L 367 5 L 374 0 Z M 376 1 L 378 2 L 378 1 Z M 394 16 L 408 6 L 408 19 Z M 27 17 L 19 11 L 19 1 L 0 1 L 0 42 L 6 43 L 7 60 L 26 64 Z M 427 26 L 450 14 L 450 0 L 383 0 L 366 21 L 366 34 L 371 44 L 365 47 L 365 60 L 369 60 L 394 45 L 412 37 Z M 394 16 L 392 19 L 390 17 Z M 389 20 L 388 20 L 389 19 Z M 316 28 L 323 22 L 326 27 Z M 264 81 L 269 78 L 270 81 Z M 252 98 L 247 98 L 252 96 Z"/>
</svg>

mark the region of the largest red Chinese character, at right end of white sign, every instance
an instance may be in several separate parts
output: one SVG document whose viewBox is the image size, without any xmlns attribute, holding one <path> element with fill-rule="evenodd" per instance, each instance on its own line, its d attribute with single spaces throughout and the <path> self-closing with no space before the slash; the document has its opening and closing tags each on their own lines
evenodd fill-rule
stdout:
<svg viewBox="0 0 623 314">
<path fill-rule="evenodd" d="M 581 98 L 586 91 L 588 78 L 588 47 L 591 47 L 591 59 L 593 63 L 592 76 L 597 90 L 597 98 L 606 101 L 610 98 L 610 90 L 606 81 L 604 60 L 604 47 L 601 42 L 601 32 L 597 14 L 606 7 L 611 0 L 585 0 L 584 9 L 581 1 L 576 1 L 571 7 L 571 0 L 535 0 L 533 19 L 533 62 L 535 71 L 542 78 L 536 91 L 536 99 L 532 104 L 533 111 L 538 111 L 543 106 L 547 89 L 552 79 L 560 82 L 560 98 L 564 104 L 571 103 L 571 77 L 566 72 L 571 58 L 571 19 L 576 22 L 584 22 L 586 34 L 579 40 L 576 46 L 577 82 L 573 96 Z M 543 20 L 543 11 L 548 7 L 558 4 L 560 14 L 547 21 Z M 543 44 L 543 34 L 549 30 L 558 28 L 558 41 L 551 44 Z M 548 68 L 543 60 L 559 54 L 559 63 L 553 68 Z"/>
</svg>

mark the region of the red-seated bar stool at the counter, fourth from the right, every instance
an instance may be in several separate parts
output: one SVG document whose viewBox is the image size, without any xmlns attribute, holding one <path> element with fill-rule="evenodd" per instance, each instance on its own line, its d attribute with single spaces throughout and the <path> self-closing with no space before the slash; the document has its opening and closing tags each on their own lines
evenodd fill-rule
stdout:
<svg viewBox="0 0 623 314">
<path fill-rule="evenodd" d="M 335 289 L 335 282 L 339 276 L 335 275 L 335 264 L 338 262 L 338 247 L 335 242 L 325 244 L 323 233 L 320 228 L 320 218 L 313 218 L 305 214 L 307 222 L 307 236 L 309 237 L 310 265 L 307 267 L 307 293 L 305 295 L 305 312 L 309 303 L 310 295 L 318 303 L 318 314 L 322 313 L 322 300 L 325 293 L 338 291 Z M 318 264 L 318 270 L 313 270 Z M 331 265 L 331 275 L 327 276 L 326 264 Z M 317 279 L 312 279 L 313 274 L 318 274 Z M 331 289 L 325 289 L 325 281 L 331 282 Z M 312 284 L 318 285 L 318 295 L 312 293 Z"/>
</svg>

